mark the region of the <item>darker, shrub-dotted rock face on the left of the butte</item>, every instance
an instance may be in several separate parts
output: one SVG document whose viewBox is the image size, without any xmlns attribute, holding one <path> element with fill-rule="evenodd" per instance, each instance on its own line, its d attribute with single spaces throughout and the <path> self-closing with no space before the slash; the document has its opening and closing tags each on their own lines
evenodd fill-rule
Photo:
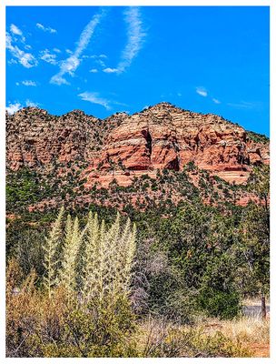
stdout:
<svg viewBox="0 0 276 364">
<path fill-rule="evenodd" d="M 6 164 L 13 170 L 56 162 L 89 160 L 124 114 L 105 120 L 74 110 L 63 116 L 25 107 L 6 116 Z"/>
</svg>

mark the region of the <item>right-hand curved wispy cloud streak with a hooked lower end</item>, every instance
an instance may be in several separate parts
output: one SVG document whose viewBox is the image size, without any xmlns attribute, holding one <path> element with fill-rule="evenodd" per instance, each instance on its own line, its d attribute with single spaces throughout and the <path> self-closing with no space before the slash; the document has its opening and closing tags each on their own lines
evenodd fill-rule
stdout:
<svg viewBox="0 0 276 364">
<path fill-rule="evenodd" d="M 124 21 L 127 25 L 127 43 L 123 49 L 121 60 L 116 68 L 105 68 L 105 73 L 123 73 L 131 66 L 133 59 L 138 55 L 143 46 L 146 35 L 143 30 L 143 21 L 139 7 L 130 6 L 124 12 Z"/>
</svg>

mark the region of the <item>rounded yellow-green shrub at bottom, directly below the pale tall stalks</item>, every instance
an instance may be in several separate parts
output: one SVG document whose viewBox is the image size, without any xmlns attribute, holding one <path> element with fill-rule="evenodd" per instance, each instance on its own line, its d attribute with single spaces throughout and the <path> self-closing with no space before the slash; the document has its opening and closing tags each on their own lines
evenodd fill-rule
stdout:
<svg viewBox="0 0 276 364">
<path fill-rule="evenodd" d="M 130 340 L 135 319 L 129 301 L 118 297 L 116 300 L 111 298 L 110 302 L 92 299 L 87 306 L 74 309 L 65 319 L 68 339 L 79 349 L 79 356 L 135 356 L 135 345 Z"/>
</svg>

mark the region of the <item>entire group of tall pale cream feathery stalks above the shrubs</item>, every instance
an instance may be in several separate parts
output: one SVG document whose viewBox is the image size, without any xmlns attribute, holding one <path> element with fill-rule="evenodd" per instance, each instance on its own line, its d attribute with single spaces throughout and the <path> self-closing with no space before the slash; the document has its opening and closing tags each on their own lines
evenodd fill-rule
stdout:
<svg viewBox="0 0 276 364">
<path fill-rule="evenodd" d="M 91 298 L 99 298 L 102 301 L 106 297 L 126 297 L 130 290 L 133 268 L 135 225 L 131 226 L 129 218 L 122 225 L 118 213 L 112 226 L 107 228 L 104 219 L 100 224 L 97 214 L 93 216 L 90 212 L 85 227 L 80 228 L 78 217 L 75 217 L 73 222 L 72 217 L 68 215 L 62 241 L 63 215 L 64 208 L 60 210 L 44 245 L 44 284 L 49 298 L 56 285 L 63 286 L 70 294 L 77 293 L 83 302 L 88 302 Z M 58 258 L 59 242 L 63 251 Z M 81 251 L 84 251 L 82 257 Z M 80 259 L 82 269 L 79 271 L 77 268 Z M 57 273 L 58 263 L 61 268 Z"/>
</svg>

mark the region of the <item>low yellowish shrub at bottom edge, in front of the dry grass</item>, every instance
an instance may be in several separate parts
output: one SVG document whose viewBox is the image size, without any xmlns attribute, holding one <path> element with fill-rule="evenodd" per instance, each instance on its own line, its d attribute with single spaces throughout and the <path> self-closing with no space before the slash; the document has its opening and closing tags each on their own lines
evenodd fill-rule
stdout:
<svg viewBox="0 0 276 364">
<path fill-rule="evenodd" d="M 221 331 L 207 332 L 193 326 L 173 326 L 163 319 L 150 319 L 143 325 L 138 340 L 142 357 L 208 358 L 249 357 L 251 352 L 240 339 L 232 339 Z"/>
</svg>

